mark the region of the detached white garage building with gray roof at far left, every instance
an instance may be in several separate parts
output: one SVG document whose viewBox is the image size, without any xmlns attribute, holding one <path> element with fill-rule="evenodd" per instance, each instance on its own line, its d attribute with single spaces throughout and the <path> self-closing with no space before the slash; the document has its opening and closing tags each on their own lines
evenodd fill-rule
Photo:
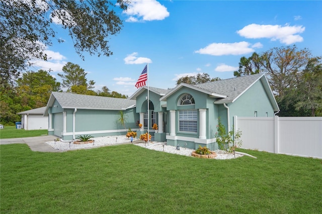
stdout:
<svg viewBox="0 0 322 214">
<path fill-rule="evenodd" d="M 25 130 L 48 129 L 48 117 L 43 116 L 45 110 L 46 106 L 18 113 L 21 115 L 21 128 Z"/>
</svg>

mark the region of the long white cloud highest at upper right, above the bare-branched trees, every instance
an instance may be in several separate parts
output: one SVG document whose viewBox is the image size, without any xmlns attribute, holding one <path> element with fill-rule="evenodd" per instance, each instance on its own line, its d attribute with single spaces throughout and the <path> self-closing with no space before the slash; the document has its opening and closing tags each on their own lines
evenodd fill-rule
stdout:
<svg viewBox="0 0 322 214">
<path fill-rule="evenodd" d="M 279 40 L 281 43 L 290 45 L 296 42 L 302 42 L 303 37 L 298 34 L 303 33 L 305 27 L 281 25 L 257 25 L 251 24 L 237 31 L 240 36 L 248 39 L 268 38 L 271 41 Z"/>
</svg>

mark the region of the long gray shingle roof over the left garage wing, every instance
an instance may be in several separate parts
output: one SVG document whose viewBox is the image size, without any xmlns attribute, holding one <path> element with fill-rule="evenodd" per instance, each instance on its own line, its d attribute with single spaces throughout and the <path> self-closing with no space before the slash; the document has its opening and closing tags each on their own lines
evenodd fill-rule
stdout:
<svg viewBox="0 0 322 214">
<path fill-rule="evenodd" d="M 135 100 L 129 98 L 91 96 L 63 92 L 52 92 L 52 95 L 63 109 L 124 110 L 135 106 Z"/>
</svg>

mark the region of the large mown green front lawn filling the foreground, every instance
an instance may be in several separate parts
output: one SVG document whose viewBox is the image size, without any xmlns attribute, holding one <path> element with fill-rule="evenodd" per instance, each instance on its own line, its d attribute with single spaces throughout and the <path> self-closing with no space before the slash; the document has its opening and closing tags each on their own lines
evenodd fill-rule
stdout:
<svg viewBox="0 0 322 214">
<path fill-rule="evenodd" d="M 109 146 L 1 145 L 1 213 L 322 213 L 319 159 L 206 160 Z"/>
</svg>

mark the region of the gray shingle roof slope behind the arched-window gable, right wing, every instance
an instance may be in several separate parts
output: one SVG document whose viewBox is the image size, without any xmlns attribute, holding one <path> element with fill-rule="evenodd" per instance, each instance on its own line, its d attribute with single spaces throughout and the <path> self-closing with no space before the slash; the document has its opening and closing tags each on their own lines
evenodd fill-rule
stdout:
<svg viewBox="0 0 322 214">
<path fill-rule="evenodd" d="M 253 74 L 249 76 L 241 76 L 219 81 L 207 82 L 198 85 L 193 85 L 212 93 L 226 95 L 225 98 L 219 98 L 216 102 L 232 102 L 241 93 L 253 85 L 264 74 Z"/>
</svg>

